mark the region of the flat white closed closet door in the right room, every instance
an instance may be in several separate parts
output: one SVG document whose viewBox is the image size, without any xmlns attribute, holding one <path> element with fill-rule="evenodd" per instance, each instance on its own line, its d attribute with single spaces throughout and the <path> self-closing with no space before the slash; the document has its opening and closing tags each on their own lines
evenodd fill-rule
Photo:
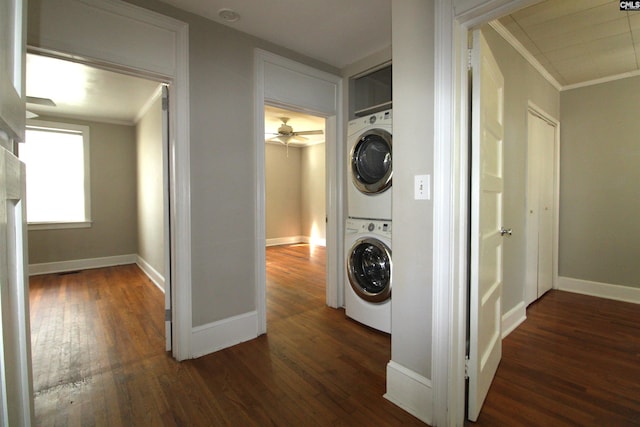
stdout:
<svg viewBox="0 0 640 427">
<path fill-rule="evenodd" d="M 529 110 L 527 116 L 526 303 L 553 285 L 556 125 Z"/>
</svg>

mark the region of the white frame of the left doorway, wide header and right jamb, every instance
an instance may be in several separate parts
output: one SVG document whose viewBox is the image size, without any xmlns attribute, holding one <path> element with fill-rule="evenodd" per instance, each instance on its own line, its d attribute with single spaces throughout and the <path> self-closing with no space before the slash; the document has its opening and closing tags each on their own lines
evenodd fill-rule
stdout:
<svg viewBox="0 0 640 427">
<path fill-rule="evenodd" d="M 63 57 L 94 66 L 171 83 L 169 145 L 174 168 L 168 171 L 172 253 L 168 267 L 173 299 L 172 354 L 177 360 L 189 359 L 192 357 L 189 26 L 116 0 L 47 0 L 41 2 L 41 7 L 49 19 L 34 30 L 37 45 L 28 45 L 33 51 L 54 56 L 63 53 Z M 75 25 L 74 19 L 83 19 L 85 25 Z M 85 33 L 83 28 L 95 31 Z M 109 37 L 111 28 L 118 28 L 121 37 Z M 122 43 L 140 34 L 146 36 L 148 44 Z"/>
</svg>

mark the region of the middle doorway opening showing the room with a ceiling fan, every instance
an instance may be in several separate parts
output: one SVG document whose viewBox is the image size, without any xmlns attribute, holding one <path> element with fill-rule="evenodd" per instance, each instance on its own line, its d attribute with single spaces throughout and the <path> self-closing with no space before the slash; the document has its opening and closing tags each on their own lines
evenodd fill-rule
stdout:
<svg viewBox="0 0 640 427">
<path fill-rule="evenodd" d="M 325 268 L 317 268 L 326 250 L 325 119 L 271 105 L 264 118 L 267 317 L 273 319 L 273 286 L 289 286 L 301 300 L 326 292 Z"/>
</svg>

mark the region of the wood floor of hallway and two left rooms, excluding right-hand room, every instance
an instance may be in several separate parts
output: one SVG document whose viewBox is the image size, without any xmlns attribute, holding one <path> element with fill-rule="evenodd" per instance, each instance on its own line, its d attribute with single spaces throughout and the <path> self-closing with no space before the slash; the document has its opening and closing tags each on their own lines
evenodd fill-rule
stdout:
<svg viewBox="0 0 640 427">
<path fill-rule="evenodd" d="M 32 277 L 36 424 L 424 425 L 382 397 L 389 336 L 325 305 L 324 259 L 268 248 L 268 334 L 181 363 L 136 266 Z"/>
</svg>

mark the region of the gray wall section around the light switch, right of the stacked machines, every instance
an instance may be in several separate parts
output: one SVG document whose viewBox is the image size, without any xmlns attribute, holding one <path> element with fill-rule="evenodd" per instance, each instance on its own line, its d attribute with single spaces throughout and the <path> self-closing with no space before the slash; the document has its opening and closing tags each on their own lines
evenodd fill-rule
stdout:
<svg viewBox="0 0 640 427">
<path fill-rule="evenodd" d="M 433 176 L 433 7 L 422 0 L 392 2 L 391 358 L 426 378 L 432 358 L 433 203 L 413 199 L 413 176 Z"/>
</svg>

